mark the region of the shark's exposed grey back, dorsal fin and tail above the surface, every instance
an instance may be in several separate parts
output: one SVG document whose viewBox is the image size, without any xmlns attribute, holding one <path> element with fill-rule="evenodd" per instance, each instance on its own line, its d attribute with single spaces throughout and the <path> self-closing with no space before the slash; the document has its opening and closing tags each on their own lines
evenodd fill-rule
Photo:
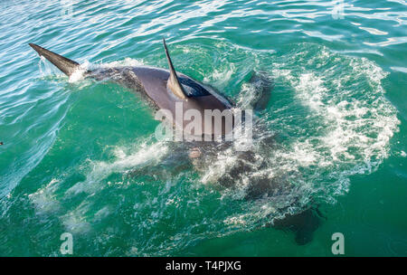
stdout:
<svg viewBox="0 0 407 275">
<path fill-rule="evenodd" d="M 36 44 L 30 43 L 29 45 L 68 76 L 71 76 L 74 71 L 80 68 L 78 62 L 73 62 Z M 165 42 L 164 45 L 166 49 Z M 146 96 L 147 99 L 154 104 L 156 109 L 169 110 L 172 116 L 169 118 L 166 117 L 166 119 L 170 120 L 177 127 L 184 129 L 185 126 L 191 122 L 190 120 L 183 119 L 182 122 L 175 121 L 175 104 L 182 102 L 182 115 L 189 109 L 198 110 L 201 113 L 203 136 L 213 136 L 214 133 L 219 132 L 222 132 L 222 135 L 224 135 L 224 130 L 226 129 L 224 119 L 222 119 L 222 125 L 219 126 L 213 123 L 212 129 L 210 129 L 209 132 L 205 132 L 204 110 L 219 109 L 222 112 L 225 109 L 232 108 L 231 101 L 222 97 L 212 88 L 198 81 L 194 81 L 194 79 L 180 72 L 176 72 L 175 77 L 177 77 L 182 85 L 181 90 L 185 92 L 185 99 L 177 97 L 175 92 L 167 85 L 171 77 L 171 69 L 174 69 L 169 55 L 167 55 L 167 58 L 170 70 L 148 66 L 118 67 L 86 71 L 85 76 L 98 81 L 116 81 L 130 90 L 134 90 L 138 93 L 141 92 L 142 95 Z"/>
</svg>

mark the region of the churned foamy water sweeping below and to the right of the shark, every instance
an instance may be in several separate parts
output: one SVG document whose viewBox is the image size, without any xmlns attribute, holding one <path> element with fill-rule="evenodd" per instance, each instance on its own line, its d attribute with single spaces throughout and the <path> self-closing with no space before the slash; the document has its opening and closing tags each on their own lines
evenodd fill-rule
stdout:
<svg viewBox="0 0 407 275">
<path fill-rule="evenodd" d="M 315 202 L 335 203 L 348 191 L 352 175 L 373 173 L 389 155 L 400 121 L 384 96 L 387 73 L 374 62 L 313 44 L 276 54 L 222 43 L 220 51 L 234 51 L 237 60 L 218 60 L 213 64 L 218 71 L 203 71 L 209 76 L 205 81 L 218 80 L 215 85 L 222 88 L 234 85 L 232 76 L 238 78 L 233 82 L 240 81 L 239 94 L 228 94 L 238 109 L 251 106 L 258 92 L 245 78 L 247 68 L 268 71 L 275 82 L 270 107 L 255 123 L 251 157 L 234 147 L 214 147 L 191 169 L 179 162 L 181 145 L 137 140 L 108 147 L 109 159 L 80 165 L 80 182 L 64 189 L 61 180 L 33 194 L 37 212 L 50 208 L 58 193 L 62 203 L 81 197 L 80 204 L 59 208 L 66 229 L 90 234 L 97 223 L 117 236 L 109 224 L 115 216 L 135 236 L 128 255 L 168 255 L 196 240 L 267 226 Z M 231 176 L 241 166 L 244 173 Z M 132 171 L 135 176 L 125 176 Z M 264 182 L 273 183 L 273 191 L 256 193 L 253 183 Z M 107 202 L 112 186 L 107 194 L 113 202 Z M 131 191 L 120 192 L 126 188 Z"/>
</svg>

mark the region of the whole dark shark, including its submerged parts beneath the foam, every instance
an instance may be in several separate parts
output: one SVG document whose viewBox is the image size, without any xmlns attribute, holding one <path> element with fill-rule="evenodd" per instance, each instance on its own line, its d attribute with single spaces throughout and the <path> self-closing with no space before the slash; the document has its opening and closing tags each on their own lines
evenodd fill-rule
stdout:
<svg viewBox="0 0 407 275">
<path fill-rule="evenodd" d="M 166 52 L 166 60 L 168 62 L 168 70 L 150 66 L 99 68 L 91 71 L 84 71 L 84 77 L 96 81 L 110 80 L 118 82 L 118 84 L 123 85 L 130 90 L 141 93 L 147 101 L 152 103 L 154 109 L 169 110 L 171 115 L 166 119 L 173 119 L 173 121 L 170 122 L 172 122 L 175 127 L 185 128 L 189 123 L 189 121 L 185 120 L 181 123 L 176 121 L 175 106 L 177 103 L 182 102 L 181 106 L 183 113 L 189 109 L 194 109 L 199 111 L 202 117 L 204 117 L 205 110 L 219 110 L 222 112 L 223 110 L 230 110 L 234 107 L 232 100 L 222 96 L 212 87 L 194 81 L 191 77 L 175 71 L 165 39 L 163 39 L 163 44 Z M 49 62 L 52 62 L 53 65 L 68 77 L 70 77 L 75 71 L 81 70 L 80 63 L 78 62 L 74 62 L 62 55 L 44 49 L 39 45 L 33 43 L 29 43 L 29 45 L 33 50 L 38 52 L 40 56 L 43 56 Z M 253 73 L 250 81 L 255 82 L 256 85 L 260 86 L 260 95 L 252 104 L 253 109 L 264 109 L 270 99 L 272 81 L 262 73 Z M 224 123 L 225 121 L 222 120 L 221 125 L 217 126 L 216 124 L 213 124 L 211 128 L 205 128 L 203 120 L 202 135 L 213 136 L 213 133 L 219 133 L 219 130 L 222 132 L 222 135 L 225 135 L 226 127 Z M 199 159 L 202 154 L 209 154 L 208 151 L 210 151 L 210 149 L 207 149 L 208 144 L 210 148 L 213 146 L 213 143 L 211 142 L 194 143 L 193 147 L 189 147 L 189 157 Z M 218 149 L 219 147 L 216 147 L 215 150 Z M 241 165 L 235 167 L 226 177 L 219 179 L 220 185 L 231 187 L 236 178 L 239 178 L 247 170 L 253 169 L 251 166 L 246 165 L 248 162 L 251 162 L 251 159 L 254 157 L 253 153 L 250 151 L 242 152 L 240 156 Z M 195 159 L 194 161 L 195 166 L 199 166 L 199 161 L 196 161 Z M 276 192 L 276 190 L 281 187 L 279 184 L 270 182 L 270 180 L 267 179 L 254 182 L 255 181 L 253 181 L 251 188 L 249 188 L 246 197 L 247 199 L 256 199 L 267 193 L 276 194 L 279 192 Z M 305 244 L 312 240 L 313 232 L 317 230 L 321 216 L 322 215 L 315 206 L 309 206 L 300 213 L 287 213 L 284 218 L 274 219 L 270 225 L 284 231 L 295 232 L 296 242 L 298 244 Z"/>
</svg>

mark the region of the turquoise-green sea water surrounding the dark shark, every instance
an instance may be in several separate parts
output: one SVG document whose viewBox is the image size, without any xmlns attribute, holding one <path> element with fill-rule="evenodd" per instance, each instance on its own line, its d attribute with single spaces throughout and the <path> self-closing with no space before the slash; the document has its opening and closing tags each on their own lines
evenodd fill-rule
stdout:
<svg viewBox="0 0 407 275">
<path fill-rule="evenodd" d="M 0 255 L 60 256 L 71 232 L 75 256 L 330 256 L 342 232 L 347 256 L 407 256 L 407 3 L 338 3 L 2 1 Z M 219 184 L 231 152 L 171 162 L 141 98 L 68 79 L 27 44 L 166 68 L 162 37 L 177 71 L 241 108 L 251 71 L 274 79 L 258 115 L 277 146 L 256 173 L 295 187 L 246 200 L 257 174 Z M 325 217 L 311 242 L 268 226 L 310 204 Z"/>
</svg>

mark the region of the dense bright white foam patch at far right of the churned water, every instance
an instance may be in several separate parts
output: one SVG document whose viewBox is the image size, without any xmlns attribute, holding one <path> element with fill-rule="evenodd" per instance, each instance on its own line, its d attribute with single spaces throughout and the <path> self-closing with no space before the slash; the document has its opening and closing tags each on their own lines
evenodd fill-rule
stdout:
<svg viewBox="0 0 407 275">
<path fill-rule="evenodd" d="M 326 79 L 339 78 L 339 82 L 345 82 L 347 76 L 341 79 L 341 75 L 319 75 L 313 71 L 302 73 L 295 80 L 287 79 L 296 90 L 298 99 L 309 107 L 310 118 L 320 119 L 320 125 L 325 128 L 324 134 L 308 137 L 294 148 L 309 150 L 308 140 L 317 139 L 307 155 L 317 156 L 312 159 L 318 160 L 318 166 L 344 169 L 347 175 L 352 174 L 352 164 L 366 163 L 367 170 L 372 165 L 376 167 L 387 156 L 389 140 L 400 123 L 393 106 L 383 98 L 381 80 L 386 73 L 365 59 L 352 59 L 350 66 L 355 78 L 360 81 L 368 78 L 372 90 L 359 90 L 354 95 L 352 90 L 341 85 L 335 90 L 327 89 Z M 341 100 L 343 98 L 345 100 Z M 296 158 L 302 156 L 297 149 L 292 153 Z M 374 164 L 374 160 L 378 162 Z M 360 166 L 357 171 L 360 173 Z"/>
</svg>

